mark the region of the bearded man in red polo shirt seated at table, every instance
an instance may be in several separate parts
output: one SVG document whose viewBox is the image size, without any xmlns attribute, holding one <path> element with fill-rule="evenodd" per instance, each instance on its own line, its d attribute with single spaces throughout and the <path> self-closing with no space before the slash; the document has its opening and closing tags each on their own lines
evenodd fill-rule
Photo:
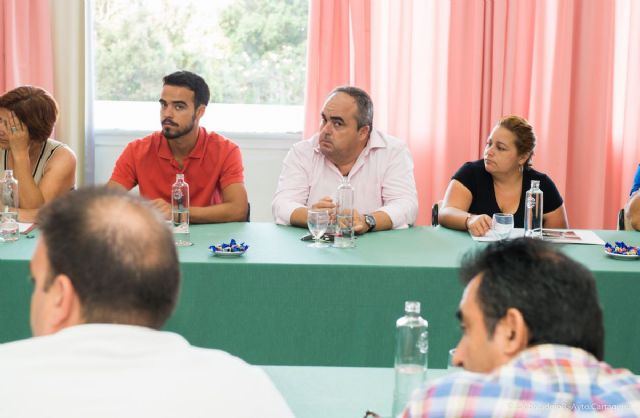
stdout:
<svg viewBox="0 0 640 418">
<path fill-rule="evenodd" d="M 189 183 L 191 222 L 244 221 L 248 200 L 240 148 L 199 126 L 209 103 L 209 86 L 197 74 L 177 71 L 163 79 L 162 131 L 130 142 L 118 158 L 109 186 L 150 199 L 171 218 L 171 185 L 183 173 Z"/>
</svg>

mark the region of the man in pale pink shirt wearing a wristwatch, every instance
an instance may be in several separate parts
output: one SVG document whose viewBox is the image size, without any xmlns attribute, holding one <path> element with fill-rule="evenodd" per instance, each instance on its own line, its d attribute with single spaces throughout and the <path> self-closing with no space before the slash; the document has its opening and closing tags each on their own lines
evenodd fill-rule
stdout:
<svg viewBox="0 0 640 418">
<path fill-rule="evenodd" d="M 346 177 L 355 189 L 357 234 L 406 228 L 418 194 L 406 144 L 373 129 L 373 104 L 357 87 L 337 87 L 324 103 L 320 132 L 293 145 L 272 202 L 276 223 L 307 226 L 308 208 L 335 208 Z"/>
</svg>

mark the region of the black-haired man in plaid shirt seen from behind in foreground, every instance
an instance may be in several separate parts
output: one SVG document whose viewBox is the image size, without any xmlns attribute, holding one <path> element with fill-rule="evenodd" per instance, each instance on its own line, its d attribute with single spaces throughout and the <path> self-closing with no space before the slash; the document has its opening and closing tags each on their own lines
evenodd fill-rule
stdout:
<svg viewBox="0 0 640 418">
<path fill-rule="evenodd" d="M 404 417 L 640 416 L 640 378 L 602 362 L 585 267 L 522 238 L 468 256 L 461 279 L 454 362 L 465 371 L 416 391 Z"/>
</svg>

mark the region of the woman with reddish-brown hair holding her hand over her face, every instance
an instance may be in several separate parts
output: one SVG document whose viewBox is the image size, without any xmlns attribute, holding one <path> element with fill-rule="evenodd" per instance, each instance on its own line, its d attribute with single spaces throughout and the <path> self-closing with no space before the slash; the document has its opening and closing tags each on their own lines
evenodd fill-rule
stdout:
<svg viewBox="0 0 640 418">
<path fill-rule="evenodd" d="M 57 117 L 58 105 L 39 87 L 22 86 L 0 96 L 0 177 L 13 170 L 23 221 L 75 188 L 75 154 L 49 138 Z"/>
</svg>

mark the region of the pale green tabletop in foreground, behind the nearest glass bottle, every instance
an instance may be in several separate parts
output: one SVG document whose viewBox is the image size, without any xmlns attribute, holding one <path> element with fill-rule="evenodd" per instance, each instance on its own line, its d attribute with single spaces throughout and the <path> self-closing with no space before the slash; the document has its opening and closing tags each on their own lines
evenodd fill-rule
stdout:
<svg viewBox="0 0 640 418">
<path fill-rule="evenodd" d="M 297 418 L 391 416 L 393 369 L 262 366 Z M 427 381 L 449 373 L 429 369 Z"/>
</svg>

